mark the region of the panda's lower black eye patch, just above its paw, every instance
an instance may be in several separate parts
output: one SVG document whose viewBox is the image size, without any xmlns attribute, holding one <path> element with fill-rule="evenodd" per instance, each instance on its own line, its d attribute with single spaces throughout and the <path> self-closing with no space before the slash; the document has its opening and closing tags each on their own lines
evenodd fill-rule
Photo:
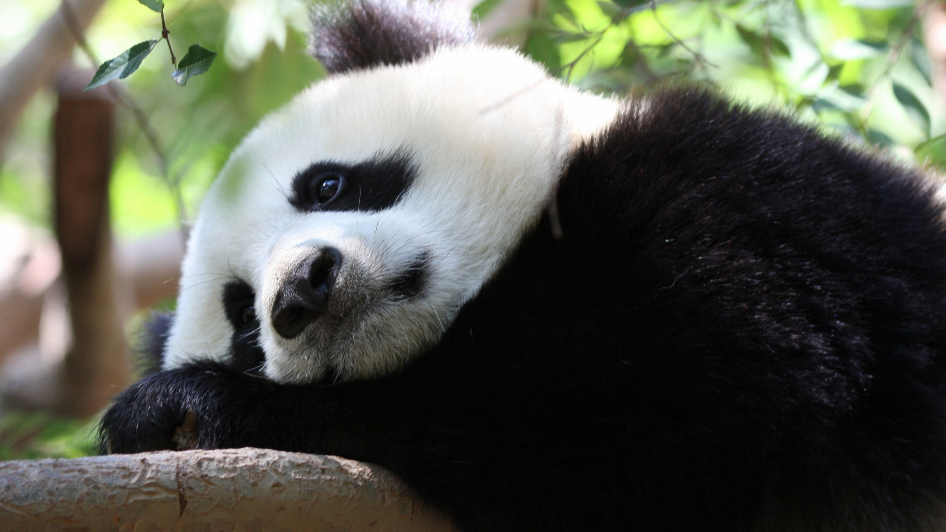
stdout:
<svg viewBox="0 0 946 532">
<path fill-rule="evenodd" d="M 253 287 L 235 280 L 223 285 L 223 311 L 234 326 L 230 339 L 233 354 L 231 365 L 237 371 L 260 373 L 266 354 L 259 346 L 259 318 L 254 309 Z"/>
</svg>

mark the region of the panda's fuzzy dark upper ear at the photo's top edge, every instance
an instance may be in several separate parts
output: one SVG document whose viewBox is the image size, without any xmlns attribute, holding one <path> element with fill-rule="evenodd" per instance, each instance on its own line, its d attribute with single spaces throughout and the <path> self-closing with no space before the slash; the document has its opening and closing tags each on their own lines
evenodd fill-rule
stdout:
<svg viewBox="0 0 946 532">
<path fill-rule="evenodd" d="M 477 40 L 469 15 L 429 0 L 348 0 L 312 16 L 312 55 L 330 73 L 412 62 Z"/>
</svg>

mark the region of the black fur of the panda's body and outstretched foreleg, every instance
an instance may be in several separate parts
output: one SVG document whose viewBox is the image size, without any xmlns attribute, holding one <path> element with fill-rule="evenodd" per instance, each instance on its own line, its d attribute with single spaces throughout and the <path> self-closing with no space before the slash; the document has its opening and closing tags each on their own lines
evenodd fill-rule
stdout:
<svg viewBox="0 0 946 532">
<path fill-rule="evenodd" d="M 541 222 L 403 371 L 193 364 L 123 393 L 104 438 L 168 449 L 194 412 L 201 448 L 375 462 L 467 532 L 941 526 L 934 190 L 706 92 L 647 101 L 570 163 L 564 238 Z"/>
</svg>

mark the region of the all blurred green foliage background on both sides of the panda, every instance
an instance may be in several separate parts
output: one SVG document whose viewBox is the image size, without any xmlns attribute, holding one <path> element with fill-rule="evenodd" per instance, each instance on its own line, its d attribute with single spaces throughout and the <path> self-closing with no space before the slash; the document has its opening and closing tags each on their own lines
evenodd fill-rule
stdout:
<svg viewBox="0 0 946 532">
<path fill-rule="evenodd" d="M 642 83 L 708 82 L 737 101 L 794 113 L 906 164 L 946 161 L 939 136 L 946 115 L 921 32 L 933 2 L 548 0 L 528 2 L 528 16 L 497 21 L 513 1 L 485 0 L 470 6 L 472 16 L 499 28 L 490 37 L 519 44 L 552 75 L 586 90 L 622 95 Z M 0 1 L 0 64 L 58 5 Z M 119 109 L 111 185 L 119 239 L 175 227 L 175 193 L 184 199 L 181 222 L 192 221 L 207 186 L 254 123 L 324 76 L 306 53 L 307 9 L 301 0 L 166 1 L 178 57 L 192 43 L 219 57 L 180 87 L 161 44 L 125 81 L 169 166 L 165 179 L 140 128 Z M 160 30 L 160 17 L 136 0 L 108 0 L 87 37 L 105 60 Z M 96 66 L 79 50 L 75 62 Z M 12 213 L 47 229 L 54 106 L 48 89 L 30 101 L 0 167 L 0 216 Z M 92 451 L 93 428 L 93 421 L 9 414 L 0 419 L 0 459 L 82 455 Z"/>
</svg>

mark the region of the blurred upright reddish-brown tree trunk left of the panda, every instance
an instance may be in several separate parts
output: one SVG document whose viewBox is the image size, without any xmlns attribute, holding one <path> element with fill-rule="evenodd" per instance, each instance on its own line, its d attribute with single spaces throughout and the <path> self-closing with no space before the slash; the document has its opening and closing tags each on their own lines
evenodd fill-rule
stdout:
<svg viewBox="0 0 946 532">
<path fill-rule="evenodd" d="M 83 93 L 83 81 L 61 82 L 53 133 L 55 226 L 73 338 L 58 410 L 78 417 L 95 414 L 131 377 L 109 223 L 113 103 L 104 91 Z"/>
</svg>

